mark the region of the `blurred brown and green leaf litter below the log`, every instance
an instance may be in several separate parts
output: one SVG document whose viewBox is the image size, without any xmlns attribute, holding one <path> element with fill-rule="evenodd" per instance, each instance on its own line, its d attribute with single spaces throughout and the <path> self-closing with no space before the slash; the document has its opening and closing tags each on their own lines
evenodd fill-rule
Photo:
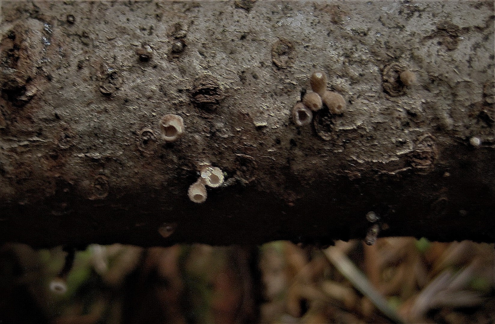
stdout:
<svg viewBox="0 0 495 324">
<path fill-rule="evenodd" d="M 1 246 L 1 324 L 495 323 L 494 244 L 90 245 L 64 275 L 66 256 Z"/>
</svg>

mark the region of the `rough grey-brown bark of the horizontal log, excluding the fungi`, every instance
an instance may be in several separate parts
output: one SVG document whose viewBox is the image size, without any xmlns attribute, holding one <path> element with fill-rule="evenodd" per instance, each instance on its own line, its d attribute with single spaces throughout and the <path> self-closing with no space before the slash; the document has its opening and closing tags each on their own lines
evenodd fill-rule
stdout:
<svg viewBox="0 0 495 324">
<path fill-rule="evenodd" d="M 493 26 L 493 1 L 2 1 L 0 241 L 325 244 L 373 211 L 493 242 Z M 297 127 L 315 69 L 347 110 Z M 226 184 L 196 204 L 205 162 Z"/>
</svg>

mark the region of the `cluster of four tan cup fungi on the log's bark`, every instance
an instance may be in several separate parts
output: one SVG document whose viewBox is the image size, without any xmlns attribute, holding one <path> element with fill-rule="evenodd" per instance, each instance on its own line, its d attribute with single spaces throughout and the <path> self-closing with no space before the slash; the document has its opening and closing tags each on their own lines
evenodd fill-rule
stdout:
<svg viewBox="0 0 495 324">
<path fill-rule="evenodd" d="M 313 111 L 325 105 L 332 114 L 342 114 L 346 109 L 346 100 L 337 92 L 327 90 L 327 76 L 323 71 L 315 71 L 309 77 L 312 91 L 306 92 L 302 101 L 298 101 L 292 110 L 292 117 L 297 126 L 309 125 Z"/>
</svg>

